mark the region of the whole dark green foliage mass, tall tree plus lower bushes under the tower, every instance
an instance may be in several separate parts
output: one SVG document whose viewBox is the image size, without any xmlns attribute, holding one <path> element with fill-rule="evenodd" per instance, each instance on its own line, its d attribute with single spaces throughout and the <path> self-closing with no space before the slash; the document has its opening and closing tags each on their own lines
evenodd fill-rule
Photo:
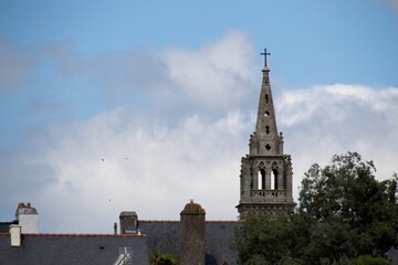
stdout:
<svg viewBox="0 0 398 265">
<path fill-rule="evenodd" d="M 357 152 L 313 165 L 295 212 L 251 213 L 237 229 L 240 264 L 385 264 L 376 262 L 396 244 L 397 174 L 377 181 L 375 171 Z"/>
</svg>

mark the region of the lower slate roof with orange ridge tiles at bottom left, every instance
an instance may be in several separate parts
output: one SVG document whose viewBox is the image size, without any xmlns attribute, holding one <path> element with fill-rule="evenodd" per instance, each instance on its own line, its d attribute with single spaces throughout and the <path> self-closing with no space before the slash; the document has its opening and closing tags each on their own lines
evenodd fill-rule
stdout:
<svg viewBox="0 0 398 265">
<path fill-rule="evenodd" d="M 145 235 L 22 234 L 22 246 L 18 247 L 11 246 L 9 233 L 0 233 L 0 264 L 109 265 L 119 247 L 133 248 L 132 264 L 148 265 Z"/>
</svg>

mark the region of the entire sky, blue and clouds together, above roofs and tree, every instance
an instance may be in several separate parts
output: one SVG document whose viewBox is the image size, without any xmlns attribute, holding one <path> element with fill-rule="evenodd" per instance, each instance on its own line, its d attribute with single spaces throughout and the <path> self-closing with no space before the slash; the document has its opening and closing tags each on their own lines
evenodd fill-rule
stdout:
<svg viewBox="0 0 398 265">
<path fill-rule="evenodd" d="M 265 47 L 295 201 L 336 153 L 398 171 L 397 0 L 0 0 L 0 221 L 237 220 Z"/>
</svg>

